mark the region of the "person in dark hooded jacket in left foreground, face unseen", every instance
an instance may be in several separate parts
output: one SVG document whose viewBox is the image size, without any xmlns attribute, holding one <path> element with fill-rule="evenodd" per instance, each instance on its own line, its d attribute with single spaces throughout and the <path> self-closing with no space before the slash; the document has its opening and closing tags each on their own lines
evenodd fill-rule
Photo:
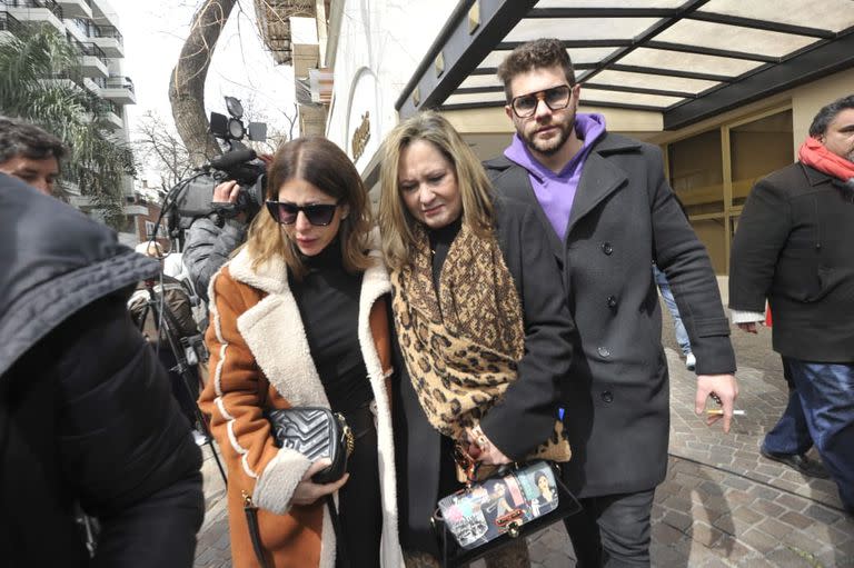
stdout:
<svg viewBox="0 0 854 568">
<path fill-rule="evenodd" d="M 191 566 L 200 450 L 125 307 L 157 261 L 0 175 L 0 564 Z"/>
</svg>

